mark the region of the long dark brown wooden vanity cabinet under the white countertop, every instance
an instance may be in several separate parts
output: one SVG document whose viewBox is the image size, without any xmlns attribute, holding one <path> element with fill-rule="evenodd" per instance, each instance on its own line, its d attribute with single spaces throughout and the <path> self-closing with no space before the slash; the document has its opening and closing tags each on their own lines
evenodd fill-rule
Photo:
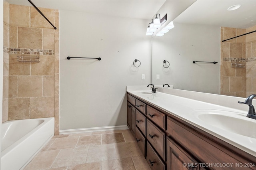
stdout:
<svg viewBox="0 0 256 170">
<path fill-rule="evenodd" d="M 151 169 L 256 170 L 255 156 L 152 106 L 147 101 L 129 94 L 127 98 L 127 125 L 130 125 L 130 130 Z M 232 166 L 217 167 L 222 163 Z M 247 165 L 250 167 L 246 167 Z"/>
</svg>

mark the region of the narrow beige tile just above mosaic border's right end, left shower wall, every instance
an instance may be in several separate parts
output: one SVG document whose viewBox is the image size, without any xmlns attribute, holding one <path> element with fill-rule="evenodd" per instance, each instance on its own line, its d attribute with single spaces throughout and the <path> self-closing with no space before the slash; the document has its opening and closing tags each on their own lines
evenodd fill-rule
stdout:
<svg viewBox="0 0 256 170">
<path fill-rule="evenodd" d="M 43 49 L 55 48 L 54 29 L 43 29 Z"/>
</svg>

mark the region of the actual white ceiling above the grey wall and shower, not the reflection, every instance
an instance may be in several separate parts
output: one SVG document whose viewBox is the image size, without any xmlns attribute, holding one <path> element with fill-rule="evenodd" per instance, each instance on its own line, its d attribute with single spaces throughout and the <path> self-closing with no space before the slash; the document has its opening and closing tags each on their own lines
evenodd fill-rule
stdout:
<svg viewBox="0 0 256 170">
<path fill-rule="evenodd" d="M 27 0 L 6 0 L 10 4 L 32 6 Z M 151 20 L 166 0 L 31 0 L 38 8 L 51 8 L 107 16 Z"/>
</svg>

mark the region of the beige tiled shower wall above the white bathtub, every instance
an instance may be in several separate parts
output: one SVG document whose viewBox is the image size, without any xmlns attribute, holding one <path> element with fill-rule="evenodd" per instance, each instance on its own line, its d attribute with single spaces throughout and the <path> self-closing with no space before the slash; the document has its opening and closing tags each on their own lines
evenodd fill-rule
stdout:
<svg viewBox="0 0 256 170">
<path fill-rule="evenodd" d="M 39 8 L 56 26 L 54 30 L 34 7 L 4 4 L 10 14 L 4 16 L 9 23 L 8 28 L 5 24 L 7 36 L 4 37 L 5 44 L 9 43 L 4 45 L 9 55 L 8 120 L 55 117 L 55 133 L 58 134 L 59 12 Z M 19 62 L 17 56 L 40 56 L 40 62 Z"/>
</svg>

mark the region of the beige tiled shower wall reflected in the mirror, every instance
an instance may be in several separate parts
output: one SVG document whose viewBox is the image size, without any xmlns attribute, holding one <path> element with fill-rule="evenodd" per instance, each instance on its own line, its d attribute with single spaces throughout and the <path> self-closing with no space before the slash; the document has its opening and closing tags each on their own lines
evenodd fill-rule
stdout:
<svg viewBox="0 0 256 170">
<path fill-rule="evenodd" d="M 256 30 L 221 28 L 221 41 Z M 246 97 L 256 93 L 256 33 L 221 42 L 220 94 Z M 241 63 L 244 67 L 231 67 Z"/>
</svg>

